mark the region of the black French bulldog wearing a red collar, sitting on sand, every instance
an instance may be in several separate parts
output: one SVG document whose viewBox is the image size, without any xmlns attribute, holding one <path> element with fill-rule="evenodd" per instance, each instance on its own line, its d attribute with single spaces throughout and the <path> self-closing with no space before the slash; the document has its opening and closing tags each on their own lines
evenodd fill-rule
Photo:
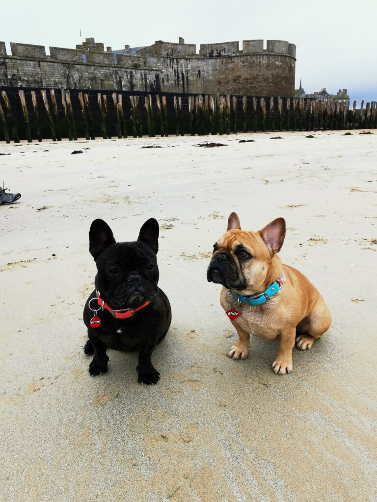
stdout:
<svg viewBox="0 0 377 502">
<path fill-rule="evenodd" d="M 90 226 L 89 252 L 98 270 L 96 289 L 83 313 L 89 338 L 84 352 L 94 354 L 89 364 L 91 375 L 108 370 L 107 348 L 139 349 L 138 381 L 156 384 L 160 378 L 151 355 L 169 329 L 171 309 L 165 293 L 157 286 L 158 234 L 154 218 L 144 223 L 134 242 L 116 242 L 102 219 Z"/>
</svg>

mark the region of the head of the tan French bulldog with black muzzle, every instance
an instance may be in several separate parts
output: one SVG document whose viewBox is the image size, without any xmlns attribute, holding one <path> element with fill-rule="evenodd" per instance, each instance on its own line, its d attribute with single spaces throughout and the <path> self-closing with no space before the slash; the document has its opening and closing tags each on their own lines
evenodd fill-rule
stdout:
<svg viewBox="0 0 377 502">
<path fill-rule="evenodd" d="M 280 249 L 284 220 L 278 218 L 258 232 L 241 230 L 236 213 L 229 216 L 227 232 L 214 244 L 207 270 L 209 282 L 238 294 L 253 294 L 263 284 L 272 256 Z M 285 235 L 285 222 L 284 222 Z M 275 237 L 280 240 L 275 242 Z"/>
</svg>

